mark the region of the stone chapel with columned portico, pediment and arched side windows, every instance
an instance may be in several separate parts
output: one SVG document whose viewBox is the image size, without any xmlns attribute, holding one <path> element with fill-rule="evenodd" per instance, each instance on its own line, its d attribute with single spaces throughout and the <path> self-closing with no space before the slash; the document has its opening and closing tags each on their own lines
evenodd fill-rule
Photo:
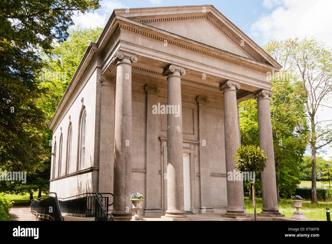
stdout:
<svg viewBox="0 0 332 244">
<path fill-rule="evenodd" d="M 227 180 L 240 146 L 238 103 L 257 98 L 263 214 L 280 214 L 269 74 L 281 65 L 212 5 L 116 9 L 90 43 L 49 124 L 50 191 L 114 194 L 129 219 L 245 215 L 243 182 Z"/>
</svg>

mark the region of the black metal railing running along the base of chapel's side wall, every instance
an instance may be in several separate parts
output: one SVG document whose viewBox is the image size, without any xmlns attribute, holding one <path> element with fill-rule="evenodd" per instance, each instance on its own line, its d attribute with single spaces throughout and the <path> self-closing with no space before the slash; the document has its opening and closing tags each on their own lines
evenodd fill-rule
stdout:
<svg viewBox="0 0 332 244">
<path fill-rule="evenodd" d="M 95 208 L 96 208 L 96 192 L 87 192 L 71 197 L 58 198 L 59 206 L 62 213 L 82 215 L 82 217 L 95 217 Z M 109 206 L 109 197 L 103 195 L 112 195 L 112 193 L 104 192 L 98 193 L 98 196 L 101 203 L 105 207 L 105 210 L 108 212 Z M 100 206 L 97 206 L 98 208 Z"/>
</svg>

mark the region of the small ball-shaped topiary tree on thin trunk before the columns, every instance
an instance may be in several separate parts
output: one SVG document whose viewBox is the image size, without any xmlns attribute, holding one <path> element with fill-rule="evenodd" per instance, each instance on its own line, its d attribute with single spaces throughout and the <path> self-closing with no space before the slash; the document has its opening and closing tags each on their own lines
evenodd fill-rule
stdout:
<svg viewBox="0 0 332 244">
<path fill-rule="evenodd" d="M 263 151 L 259 149 L 259 146 L 246 145 L 237 148 L 237 153 L 233 156 L 236 167 L 241 172 L 252 172 L 253 176 L 255 173 L 261 173 L 266 167 L 267 157 L 264 157 Z M 253 201 L 254 201 L 254 216 L 255 221 L 256 216 L 256 200 L 255 200 L 255 178 L 250 182 L 250 187 L 252 187 Z"/>
</svg>

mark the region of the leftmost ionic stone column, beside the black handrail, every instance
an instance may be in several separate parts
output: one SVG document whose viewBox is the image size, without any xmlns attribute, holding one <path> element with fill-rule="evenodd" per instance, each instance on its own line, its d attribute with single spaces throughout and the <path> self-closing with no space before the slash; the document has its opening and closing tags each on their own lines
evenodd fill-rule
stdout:
<svg viewBox="0 0 332 244">
<path fill-rule="evenodd" d="M 117 66 L 114 120 L 114 219 L 131 219 L 131 62 L 137 57 L 118 51 L 112 60 Z M 128 211 L 129 208 L 129 211 Z M 126 212 L 127 210 L 127 212 Z"/>
</svg>

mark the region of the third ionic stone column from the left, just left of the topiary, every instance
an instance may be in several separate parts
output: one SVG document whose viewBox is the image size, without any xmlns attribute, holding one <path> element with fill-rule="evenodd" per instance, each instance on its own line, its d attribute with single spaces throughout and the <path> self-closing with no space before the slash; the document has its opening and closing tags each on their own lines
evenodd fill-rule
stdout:
<svg viewBox="0 0 332 244">
<path fill-rule="evenodd" d="M 221 83 L 219 90 L 224 95 L 224 129 L 225 129 L 225 159 L 226 159 L 226 186 L 227 186 L 227 210 L 226 215 L 245 215 L 243 209 L 243 181 L 236 180 L 234 172 L 240 172 L 236 168 L 233 155 L 241 145 L 238 124 L 238 110 L 236 102 L 236 88 L 240 84 L 234 81 Z M 229 177 L 229 175 L 232 177 Z M 229 179 L 230 178 L 230 179 Z"/>
</svg>

